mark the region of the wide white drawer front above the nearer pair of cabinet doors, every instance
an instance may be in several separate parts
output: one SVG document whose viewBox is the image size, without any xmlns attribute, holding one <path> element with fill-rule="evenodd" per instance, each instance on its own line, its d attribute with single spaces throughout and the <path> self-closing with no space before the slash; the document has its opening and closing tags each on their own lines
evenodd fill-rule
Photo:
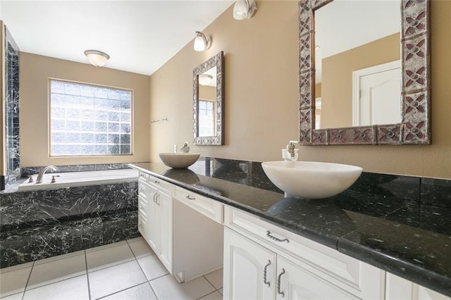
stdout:
<svg viewBox="0 0 451 300">
<path fill-rule="evenodd" d="M 385 273 L 372 265 L 226 206 L 224 225 L 268 249 L 302 262 L 302 268 L 362 299 L 380 299 Z M 362 280 L 370 278 L 370 280 Z M 368 296 L 371 290 L 373 296 Z"/>
</svg>

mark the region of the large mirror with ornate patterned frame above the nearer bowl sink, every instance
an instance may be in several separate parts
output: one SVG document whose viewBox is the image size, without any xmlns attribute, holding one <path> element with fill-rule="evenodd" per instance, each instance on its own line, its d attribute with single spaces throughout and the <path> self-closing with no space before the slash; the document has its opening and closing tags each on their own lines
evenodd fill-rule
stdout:
<svg viewBox="0 0 451 300">
<path fill-rule="evenodd" d="M 383 2 L 299 1 L 300 144 L 431 144 L 429 0 Z"/>
</svg>

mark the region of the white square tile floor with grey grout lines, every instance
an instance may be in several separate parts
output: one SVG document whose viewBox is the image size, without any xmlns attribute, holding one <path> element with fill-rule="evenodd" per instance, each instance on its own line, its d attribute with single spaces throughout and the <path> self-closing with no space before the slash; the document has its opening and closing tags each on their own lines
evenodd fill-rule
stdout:
<svg viewBox="0 0 451 300">
<path fill-rule="evenodd" d="M 223 270 L 179 284 L 142 239 L 0 269 L 0 298 L 222 299 Z"/>
</svg>

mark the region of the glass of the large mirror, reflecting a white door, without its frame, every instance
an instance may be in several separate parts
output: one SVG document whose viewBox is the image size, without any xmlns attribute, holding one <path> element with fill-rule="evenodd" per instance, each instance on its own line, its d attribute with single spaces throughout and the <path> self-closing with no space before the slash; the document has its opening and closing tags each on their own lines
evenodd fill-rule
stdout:
<svg viewBox="0 0 451 300">
<path fill-rule="evenodd" d="M 400 15 L 399 0 L 334 0 L 314 11 L 316 129 L 400 123 Z M 385 79 L 353 76 L 394 61 Z"/>
</svg>

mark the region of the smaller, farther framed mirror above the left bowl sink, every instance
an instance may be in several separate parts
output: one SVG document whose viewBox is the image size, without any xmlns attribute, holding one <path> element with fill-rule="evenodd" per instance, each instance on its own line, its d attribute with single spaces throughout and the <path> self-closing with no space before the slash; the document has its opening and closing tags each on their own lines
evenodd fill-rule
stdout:
<svg viewBox="0 0 451 300">
<path fill-rule="evenodd" d="M 224 54 L 223 51 L 192 71 L 193 144 L 224 144 Z"/>
</svg>

